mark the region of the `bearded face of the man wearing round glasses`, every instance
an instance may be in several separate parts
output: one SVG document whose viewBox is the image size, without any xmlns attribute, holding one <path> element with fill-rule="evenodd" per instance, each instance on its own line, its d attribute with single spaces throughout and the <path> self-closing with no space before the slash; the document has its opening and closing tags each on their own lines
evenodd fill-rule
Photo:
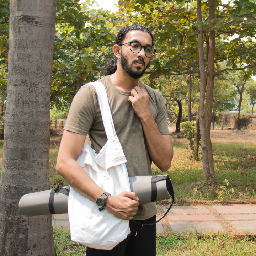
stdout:
<svg viewBox="0 0 256 256">
<path fill-rule="evenodd" d="M 152 38 L 149 33 L 140 30 L 132 30 L 126 34 L 123 43 L 138 42 L 142 46 L 152 46 Z M 139 79 L 148 68 L 151 58 L 146 57 L 144 48 L 139 53 L 133 53 L 130 45 L 121 47 L 120 65 L 133 79 Z"/>
</svg>

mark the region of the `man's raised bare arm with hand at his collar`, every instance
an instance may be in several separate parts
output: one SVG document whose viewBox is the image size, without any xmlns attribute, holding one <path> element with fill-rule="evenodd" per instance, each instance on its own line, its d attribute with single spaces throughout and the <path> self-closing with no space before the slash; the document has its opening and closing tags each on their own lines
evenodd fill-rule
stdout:
<svg viewBox="0 0 256 256">
<path fill-rule="evenodd" d="M 170 135 L 162 135 L 152 115 L 149 96 L 143 87 L 136 86 L 131 91 L 129 102 L 142 122 L 149 155 L 162 172 L 171 167 L 173 148 Z"/>
</svg>

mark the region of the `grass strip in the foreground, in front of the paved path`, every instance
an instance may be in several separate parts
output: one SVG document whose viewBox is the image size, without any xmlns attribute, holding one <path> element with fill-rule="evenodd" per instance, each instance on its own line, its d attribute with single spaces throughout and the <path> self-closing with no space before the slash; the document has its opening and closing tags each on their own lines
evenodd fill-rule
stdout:
<svg viewBox="0 0 256 256">
<path fill-rule="evenodd" d="M 69 229 L 54 228 L 56 256 L 84 256 L 86 247 L 70 240 Z M 232 236 L 197 238 L 193 235 L 157 236 L 156 256 L 255 256 L 256 242 L 248 237 Z"/>
</svg>

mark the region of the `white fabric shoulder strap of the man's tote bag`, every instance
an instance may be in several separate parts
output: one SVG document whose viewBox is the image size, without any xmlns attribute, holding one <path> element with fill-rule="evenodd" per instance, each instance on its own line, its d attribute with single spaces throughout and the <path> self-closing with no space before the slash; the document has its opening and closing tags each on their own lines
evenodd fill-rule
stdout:
<svg viewBox="0 0 256 256">
<path fill-rule="evenodd" d="M 105 128 L 105 132 L 107 135 L 107 139 L 110 140 L 113 137 L 116 137 L 116 130 L 114 128 L 114 122 L 113 122 L 112 113 L 110 110 L 110 105 L 108 102 L 108 96 L 107 96 L 105 86 L 100 81 L 90 82 L 83 86 L 86 86 L 86 85 L 94 86 L 96 93 L 98 95 L 98 104 L 100 107 L 101 117 L 102 117 L 103 125 Z"/>
</svg>

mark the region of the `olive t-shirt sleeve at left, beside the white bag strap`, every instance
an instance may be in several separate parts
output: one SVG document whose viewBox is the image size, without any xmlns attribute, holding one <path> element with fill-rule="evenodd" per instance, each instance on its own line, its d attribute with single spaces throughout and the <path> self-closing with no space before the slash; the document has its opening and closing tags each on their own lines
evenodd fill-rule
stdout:
<svg viewBox="0 0 256 256">
<path fill-rule="evenodd" d="M 95 91 L 91 86 L 82 87 L 71 103 L 64 129 L 87 135 L 97 115 L 97 106 Z"/>
</svg>

